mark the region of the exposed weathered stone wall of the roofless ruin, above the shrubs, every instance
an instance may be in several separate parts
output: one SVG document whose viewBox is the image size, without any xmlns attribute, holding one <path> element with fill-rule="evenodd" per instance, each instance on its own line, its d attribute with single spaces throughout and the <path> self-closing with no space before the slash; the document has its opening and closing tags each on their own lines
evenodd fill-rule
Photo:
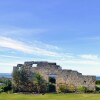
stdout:
<svg viewBox="0 0 100 100">
<path fill-rule="evenodd" d="M 13 71 L 19 70 L 21 67 L 27 69 L 28 74 L 30 72 L 40 73 L 47 82 L 49 82 L 49 77 L 54 77 L 56 92 L 59 90 L 59 84 L 71 84 L 76 88 L 85 86 L 89 90 L 95 91 L 96 76 L 86 76 L 74 70 L 62 69 L 56 63 L 29 61 L 14 66 Z"/>
</svg>

